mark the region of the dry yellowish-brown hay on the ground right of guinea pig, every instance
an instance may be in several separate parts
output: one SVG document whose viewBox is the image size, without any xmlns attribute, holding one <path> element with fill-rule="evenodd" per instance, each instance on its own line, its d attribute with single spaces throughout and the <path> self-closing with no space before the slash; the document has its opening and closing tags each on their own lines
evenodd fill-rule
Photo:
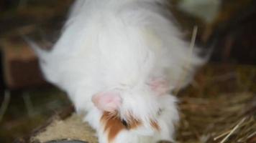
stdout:
<svg viewBox="0 0 256 143">
<path fill-rule="evenodd" d="M 248 142 L 256 132 L 256 109 L 249 105 L 252 98 L 251 93 L 183 97 L 178 141 Z"/>
</svg>

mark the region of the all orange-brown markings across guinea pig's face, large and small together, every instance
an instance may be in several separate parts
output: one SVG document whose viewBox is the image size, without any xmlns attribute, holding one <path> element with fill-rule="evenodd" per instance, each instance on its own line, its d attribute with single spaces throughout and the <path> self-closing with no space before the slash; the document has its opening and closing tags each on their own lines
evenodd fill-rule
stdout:
<svg viewBox="0 0 256 143">
<path fill-rule="evenodd" d="M 157 114 L 160 114 L 159 110 Z M 132 114 L 127 114 L 127 120 L 121 119 L 118 112 L 104 112 L 101 117 L 101 124 L 104 127 L 104 132 L 108 134 L 109 142 L 111 142 L 122 130 L 132 130 L 143 126 L 142 120 L 135 118 Z M 150 119 L 150 126 L 155 131 L 159 132 L 160 127 L 157 121 Z"/>
</svg>

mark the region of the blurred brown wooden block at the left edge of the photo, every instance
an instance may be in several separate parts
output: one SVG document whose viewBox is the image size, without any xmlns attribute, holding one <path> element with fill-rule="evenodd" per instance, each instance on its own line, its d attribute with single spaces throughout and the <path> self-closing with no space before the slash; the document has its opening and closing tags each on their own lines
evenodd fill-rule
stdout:
<svg viewBox="0 0 256 143">
<path fill-rule="evenodd" d="M 1 39 L 4 82 L 10 89 L 35 87 L 45 84 L 37 57 L 20 37 Z"/>
</svg>

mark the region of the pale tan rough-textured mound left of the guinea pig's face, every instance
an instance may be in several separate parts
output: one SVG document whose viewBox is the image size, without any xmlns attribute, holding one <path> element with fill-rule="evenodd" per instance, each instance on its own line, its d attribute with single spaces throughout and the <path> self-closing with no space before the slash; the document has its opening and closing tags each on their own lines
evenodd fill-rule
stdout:
<svg viewBox="0 0 256 143">
<path fill-rule="evenodd" d="M 96 143 L 97 138 L 91 127 L 82 122 L 82 117 L 72 114 L 68 119 L 55 119 L 43 132 L 32 137 L 30 142 L 50 142 L 54 140 L 72 139 Z"/>
</svg>

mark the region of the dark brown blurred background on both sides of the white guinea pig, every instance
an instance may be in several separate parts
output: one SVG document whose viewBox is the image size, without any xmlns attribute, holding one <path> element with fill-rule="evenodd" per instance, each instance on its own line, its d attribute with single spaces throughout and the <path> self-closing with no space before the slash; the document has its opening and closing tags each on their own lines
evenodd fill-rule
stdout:
<svg viewBox="0 0 256 143">
<path fill-rule="evenodd" d="M 0 142 L 29 137 L 71 106 L 44 81 L 22 36 L 50 49 L 72 2 L 0 0 Z M 256 1 L 170 0 L 170 11 L 184 39 L 198 26 L 196 44 L 213 48 L 209 64 L 178 93 L 178 142 L 220 142 L 241 119 L 226 142 L 256 142 Z"/>
</svg>

